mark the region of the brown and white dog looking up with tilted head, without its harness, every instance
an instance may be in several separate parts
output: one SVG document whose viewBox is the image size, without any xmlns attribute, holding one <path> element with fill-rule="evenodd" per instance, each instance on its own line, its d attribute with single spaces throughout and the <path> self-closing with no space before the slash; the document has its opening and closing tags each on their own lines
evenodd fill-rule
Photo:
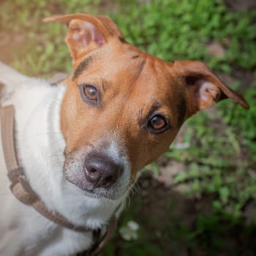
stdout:
<svg viewBox="0 0 256 256">
<path fill-rule="evenodd" d="M 89 250 L 92 230 L 121 211 L 140 170 L 167 151 L 187 118 L 225 98 L 249 108 L 203 62 L 151 56 L 110 18 L 51 21 L 67 23 L 72 74 L 51 86 L 0 63 L 1 105 L 15 108 L 15 150 L 31 189 L 49 212 L 89 230 L 59 225 L 12 195 L 0 150 L 0 255 Z"/>
</svg>

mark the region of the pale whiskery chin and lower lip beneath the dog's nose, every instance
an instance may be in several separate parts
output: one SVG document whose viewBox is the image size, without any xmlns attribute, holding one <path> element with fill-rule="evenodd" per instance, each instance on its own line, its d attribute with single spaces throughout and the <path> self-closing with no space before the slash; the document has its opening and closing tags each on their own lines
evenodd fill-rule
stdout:
<svg viewBox="0 0 256 256">
<path fill-rule="evenodd" d="M 67 176 L 64 176 L 64 178 L 74 184 L 76 187 L 78 187 L 84 195 L 92 198 L 106 198 L 108 200 L 119 200 L 121 197 L 124 197 L 126 192 L 124 191 L 123 193 L 119 193 L 117 195 L 116 189 L 110 188 L 110 189 L 105 189 L 105 188 L 97 188 L 97 187 L 91 187 L 89 184 L 86 184 L 86 182 L 79 182 L 79 181 L 74 181 L 72 178 L 69 178 Z"/>
</svg>

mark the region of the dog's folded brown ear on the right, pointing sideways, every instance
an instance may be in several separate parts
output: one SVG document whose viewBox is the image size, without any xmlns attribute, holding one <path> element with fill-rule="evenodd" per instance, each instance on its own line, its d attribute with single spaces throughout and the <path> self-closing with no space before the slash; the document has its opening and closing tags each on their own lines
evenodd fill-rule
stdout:
<svg viewBox="0 0 256 256">
<path fill-rule="evenodd" d="M 249 108 L 244 98 L 225 86 L 203 62 L 176 61 L 173 67 L 176 79 L 186 87 L 189 116 L 226 98 L 233 99 L 243 108 Z"/>
</svg>

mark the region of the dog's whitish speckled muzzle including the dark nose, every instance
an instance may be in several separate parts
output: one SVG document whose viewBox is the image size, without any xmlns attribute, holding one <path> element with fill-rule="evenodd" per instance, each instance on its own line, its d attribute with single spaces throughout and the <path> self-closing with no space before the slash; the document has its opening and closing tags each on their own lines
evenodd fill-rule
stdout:
<svg viewBox="0 0 256 256">
<path fill-rule="evenodd" d="M 91 197 L 111 200 L 123 197 L 129 189 L 129 161 L 110 148 L 83 152 L 71 151 L 65 156 L 64 177 L 67 181 Z"/>
</svg>

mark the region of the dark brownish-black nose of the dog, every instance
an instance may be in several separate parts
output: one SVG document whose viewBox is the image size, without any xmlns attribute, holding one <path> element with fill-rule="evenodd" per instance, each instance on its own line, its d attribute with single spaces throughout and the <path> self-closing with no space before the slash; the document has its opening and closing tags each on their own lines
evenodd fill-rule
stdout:
<svg viewBox="0 0 256 256">
<path fill-rule="evenodd" d="M 86 180 L 93 187 L 110 187 L 121 176 L 123 168 L 113 162 L 106 154 L 98 151 L 89 153 L 84 161 L 84 172 Z"/>
</svg>

